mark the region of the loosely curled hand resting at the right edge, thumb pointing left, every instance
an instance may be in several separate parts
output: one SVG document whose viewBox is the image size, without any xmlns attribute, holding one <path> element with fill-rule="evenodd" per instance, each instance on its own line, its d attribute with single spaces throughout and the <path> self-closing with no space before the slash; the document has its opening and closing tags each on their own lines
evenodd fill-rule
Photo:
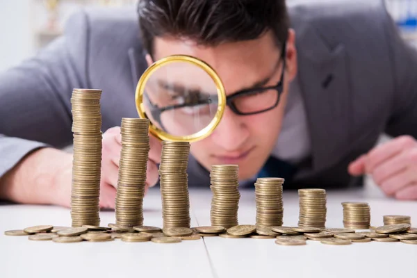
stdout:
<svg viewBox="0 0 417 278">
<path fill-rule="evenodd" d="M 349 172 L 372 175 L 386 195 L 417 199 L 417 140 L 400 136 L 379 145 L 350 163 Z"/>
</svg>

